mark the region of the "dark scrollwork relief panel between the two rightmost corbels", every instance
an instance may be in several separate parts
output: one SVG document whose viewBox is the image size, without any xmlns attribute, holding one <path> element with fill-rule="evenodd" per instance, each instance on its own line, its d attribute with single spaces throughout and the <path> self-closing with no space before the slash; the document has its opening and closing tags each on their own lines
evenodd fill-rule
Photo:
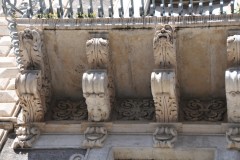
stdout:
<svg viewBox="0 0 240 160">
<path fill-rule="evenodd" d="M 225 100 L 192 99 L 183 102 L 183 119 L 188 121 L 222 121 L 226 109 Z"/>
</svg>

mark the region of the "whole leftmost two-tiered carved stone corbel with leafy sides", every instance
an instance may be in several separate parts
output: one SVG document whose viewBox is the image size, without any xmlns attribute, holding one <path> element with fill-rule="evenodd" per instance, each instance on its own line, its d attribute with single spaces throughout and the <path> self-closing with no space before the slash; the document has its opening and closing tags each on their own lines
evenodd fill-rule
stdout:
<svg viewBox="0 0 240 160">
<path fill-rule="evenodd" d="M 42 32 L 30 28 L 19 32 L 19 51 L 16 91 L 23 109 L 22 122 L 41 122 L 51 97 L 50 69 Z"/>
</svg>

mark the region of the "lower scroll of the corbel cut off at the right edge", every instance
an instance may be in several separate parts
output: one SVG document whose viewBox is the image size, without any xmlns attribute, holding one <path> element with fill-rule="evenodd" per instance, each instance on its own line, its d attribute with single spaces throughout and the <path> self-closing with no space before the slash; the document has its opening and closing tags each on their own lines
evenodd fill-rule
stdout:
<svg viewBox="0 0 240 160">
<path fill-rule="evenodd" d="M 227 111 L 229 122 L 240 122 L 240 69 L 231 68 L 225 72 Z"/>
</svg>

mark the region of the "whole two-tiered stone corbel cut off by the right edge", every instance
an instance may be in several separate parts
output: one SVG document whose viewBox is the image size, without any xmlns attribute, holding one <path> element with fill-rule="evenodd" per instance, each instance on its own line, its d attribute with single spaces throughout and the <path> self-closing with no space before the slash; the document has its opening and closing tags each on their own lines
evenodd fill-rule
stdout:
<svg viewBox="0 0 240 160">
<path fill-rule="evenodd" d="M 240 35 L 227 38 L 227 61 L 225 72 L 228 121 L 240 122 Z"/>
</svg>

